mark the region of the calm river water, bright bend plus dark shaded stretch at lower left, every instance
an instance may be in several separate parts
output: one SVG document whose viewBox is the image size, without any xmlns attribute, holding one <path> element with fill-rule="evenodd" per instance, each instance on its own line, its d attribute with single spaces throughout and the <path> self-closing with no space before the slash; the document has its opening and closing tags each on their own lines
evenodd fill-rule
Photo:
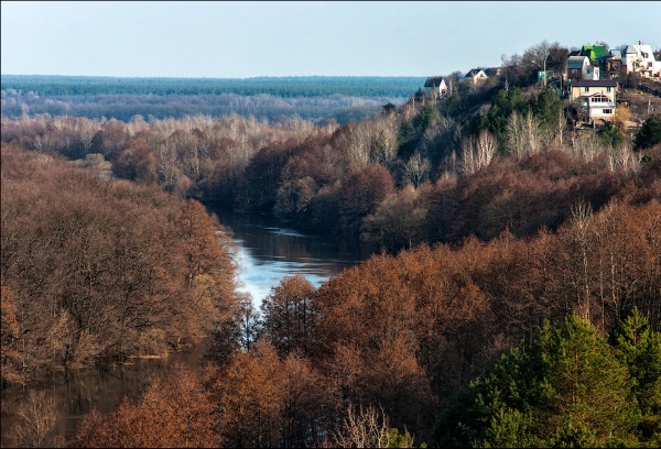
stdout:
<svg viewBox="0 0 661 449">
<path fill-rule="evenodd" d="M 262 215 L 235 215 L 223 210 L 214 212 L 231 230 L 238 244 L 241 282 L 238 289 L 249 293 L 258 308 L 271 287 L 285 276 L 301 273 L 318 287 L 328 277 L 367 256 L 356 241 L 282 228 L 272 218 Z M 48 397 L 54 397 L 59 410 L 56 432 L 64 437 L 75 431 L 83 416 L 93 408 L 101 413 L 112 410 L 122 396 L 136 395 L 150 379 L 167 366 L 183 362 L 198 369 L 204 350 L 204 344 L 201 344 L 192 352 L 171 354 L 167 359 L 95 368 L 29 388 L 3 391 L 1 446 L 15 447 L 11 438 L 15 423 L 13 410 L 30 391 L 44 392 Z"/>
</svg>

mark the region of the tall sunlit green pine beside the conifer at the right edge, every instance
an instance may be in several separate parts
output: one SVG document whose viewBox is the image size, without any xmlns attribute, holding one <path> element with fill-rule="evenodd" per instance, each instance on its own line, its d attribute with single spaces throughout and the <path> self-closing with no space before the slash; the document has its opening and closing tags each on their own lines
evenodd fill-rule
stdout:
<svg viewBox="0 0 661 449">
<path fill-rule="evenodd" d="M 638 419 L 627 369 L 588 321 L 571 315 L 564 326 L 544 326 L 533 352 L 544 372 L 535 388 L 543 436 L 577 431 L 598 446 L 631 442 Z"/>
</svg>

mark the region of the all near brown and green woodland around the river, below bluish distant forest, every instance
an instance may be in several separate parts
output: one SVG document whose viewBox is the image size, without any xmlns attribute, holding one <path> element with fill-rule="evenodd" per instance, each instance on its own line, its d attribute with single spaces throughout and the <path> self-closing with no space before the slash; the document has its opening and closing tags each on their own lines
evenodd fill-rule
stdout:
<svg viewBox="0 0 661 449">
<path fill-rule="evenodd" d="M 209 335 L 66 443 L 658 447 L 661 116 L 618 110 L 523 73 L 344 124 L 3 117 L 3 386 Z M 256 309 L 203 205 L 373 254 Z"/>
</svg>

